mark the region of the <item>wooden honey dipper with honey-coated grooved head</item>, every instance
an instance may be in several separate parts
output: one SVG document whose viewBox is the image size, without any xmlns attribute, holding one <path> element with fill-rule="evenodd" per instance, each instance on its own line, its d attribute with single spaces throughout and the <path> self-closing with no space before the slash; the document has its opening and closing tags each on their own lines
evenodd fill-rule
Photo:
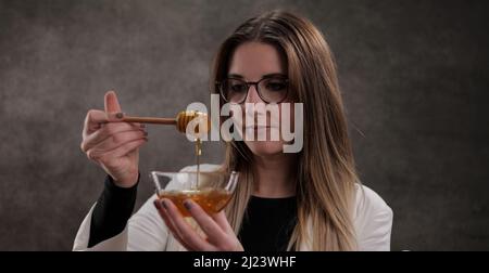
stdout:
<svg viewBox="0 0 489 273">
<path fill-rule="evenodd" d="M 125 116 L 122 121 L 126 122 L 139 122 L 139 123 L 152 123 L 152 125 L 174 125 L 179 132 L 185 133 L 187 125 L 195 118 L 205 118 L 208 121 L 208 131 L 211 128 L 211 120 L 208 114 L 197 110 L 183 110 L 178 113 L 176 118 L 159 118 L 159 117 L 130 117 Z M 199 127 L 197 127 L 197 133 L 199 133 Z"/>
</svg>

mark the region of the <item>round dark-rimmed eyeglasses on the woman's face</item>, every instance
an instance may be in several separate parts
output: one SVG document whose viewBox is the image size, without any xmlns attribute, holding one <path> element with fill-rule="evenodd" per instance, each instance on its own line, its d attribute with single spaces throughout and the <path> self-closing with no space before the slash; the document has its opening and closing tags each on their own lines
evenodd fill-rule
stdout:
<svg viewBox="0 0 489 273">
<path fill-rule="evenodd" d="M 236 104 L 242 104 L 247 100 L 251 86 L 254 86 L 260 99 L 265 103 L 283 102 L 289 90 L 289 80 L 285 76 L 266 77 L 255 82 L 226 78 L 215 83 L 224 101 Z"/>
</svg>

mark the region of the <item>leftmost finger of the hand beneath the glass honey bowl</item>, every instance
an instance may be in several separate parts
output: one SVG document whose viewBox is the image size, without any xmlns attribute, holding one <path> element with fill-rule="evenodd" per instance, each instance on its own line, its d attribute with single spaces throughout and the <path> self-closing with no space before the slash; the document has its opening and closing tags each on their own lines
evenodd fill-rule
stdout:
<svg viewBox="0 0 489 273">
<path fill-rule="evenodd" d="M 205 242 L 190 225 L 184 220 L 176 206 L 168 199 L 162 200 L 162 206 L 166 209 L 170 219 L 175 224 L 175 229 L 180 234 L 181 240 L 184 240 L 192 249 L 199 250 L 215 250 L 215 248 Z"/>
</svg>

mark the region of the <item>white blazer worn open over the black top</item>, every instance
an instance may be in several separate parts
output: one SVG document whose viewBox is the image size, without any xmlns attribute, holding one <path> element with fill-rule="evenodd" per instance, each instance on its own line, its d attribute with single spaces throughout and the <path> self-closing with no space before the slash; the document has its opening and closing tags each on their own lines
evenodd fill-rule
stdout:
<svg viewBox="0 0 489 273">
<path fill-rule="evenodd" d="M 201 165 L 202 170 L 213 170 L 216 165 Z M 183 171 L 195 170 L 195 166 Z M 73 250 L 186 250 L 172 235 L 156 209 L 152 195 L 127 222 L 123 232 L 99 244 L 88 247 L 90 221 L 95 205 L 91 207 L 76 234 Z M 358 184 L 356 205 L 353 213 L 359 250 L 390 250 L 392 210 L 371 188 Z M 301 250 L 311 250 L 311 242 L 304 242 Z"/>
</svg>

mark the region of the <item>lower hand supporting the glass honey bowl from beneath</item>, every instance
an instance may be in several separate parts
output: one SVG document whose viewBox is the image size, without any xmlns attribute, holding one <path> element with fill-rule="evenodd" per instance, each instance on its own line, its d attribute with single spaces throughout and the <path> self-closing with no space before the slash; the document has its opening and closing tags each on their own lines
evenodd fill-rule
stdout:
<svg viewBox="0 0 489 273">
<path fill-rule="evenodd" d="M 154 206 L 163 218 L 173 236 L 191 251 L 242 251 L 243 248 L 235 232 L 227 222 L 224 211 L 209 216 L 193 200 L 184 203 L 187 210 L 205 233 L 203 238 L 181 217 L 176 206 L 170 199 L 154 200 Z"/>
</svg>

